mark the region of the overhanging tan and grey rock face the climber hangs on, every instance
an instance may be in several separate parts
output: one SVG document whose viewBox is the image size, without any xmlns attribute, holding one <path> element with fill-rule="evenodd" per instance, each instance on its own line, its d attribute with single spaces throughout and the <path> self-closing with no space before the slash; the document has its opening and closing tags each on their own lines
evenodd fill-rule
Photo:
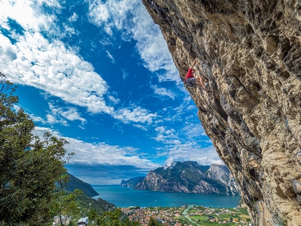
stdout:
<svg viewBox="0 0 301 226">
<path fill-rule="evenodd" d="M 301 2 L 143 0 L 255 225 L 301 225 Z"/>
</svg>

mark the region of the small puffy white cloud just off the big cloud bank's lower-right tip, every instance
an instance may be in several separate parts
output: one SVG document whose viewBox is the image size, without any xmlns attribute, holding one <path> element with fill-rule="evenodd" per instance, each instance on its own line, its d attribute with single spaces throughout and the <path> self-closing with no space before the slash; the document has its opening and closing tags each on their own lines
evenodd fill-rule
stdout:
<svg viewBox="0 0 301 226">
<path fill-rule="evenodd" d="M 151 124 L 157 117 L 157 113 L 150 113 L 148 110 L 141 108 L 140 106 L 132 106 L 130 108 L 121 108 L 113 113 L 113 118 L 129 122 L 141 122 Z"/>
</svg>

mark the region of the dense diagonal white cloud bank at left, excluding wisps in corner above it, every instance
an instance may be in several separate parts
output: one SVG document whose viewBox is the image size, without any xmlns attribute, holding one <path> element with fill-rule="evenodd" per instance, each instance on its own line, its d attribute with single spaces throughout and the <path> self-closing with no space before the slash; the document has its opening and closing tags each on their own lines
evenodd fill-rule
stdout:
<svg viewBox="0 0 301 226">
<path fill-rule="evenodd" d="M 104 101 L 106 82 L 64 43 L 49 43 L 41 34 L 29 32 L 15 45 L 0 34 L 0 43 L 0 67 L 13 83 L 45 90 L 92 113 L 113 111 Z"/>
</svg>

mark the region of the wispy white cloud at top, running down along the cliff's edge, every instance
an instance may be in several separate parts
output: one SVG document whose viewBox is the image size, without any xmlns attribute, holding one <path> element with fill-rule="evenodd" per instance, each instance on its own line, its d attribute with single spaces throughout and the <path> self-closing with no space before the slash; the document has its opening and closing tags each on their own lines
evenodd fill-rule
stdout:
<svg viewBox="0 0 301 226">
<path fill-rule="evenodd" d="M 144 66 L 152 72 L 165 70 L 158 76 L 160 81 L 181 82 L 160 28 L 153 23 L 141 0 L 108 0 L 105 3 L 90 0 L 89 15 L 91 22 L 104 26 L 108 34 L 113 34 L 112 29 L 119 29 L 125 40 L 134 38 Z"/>
</svg>

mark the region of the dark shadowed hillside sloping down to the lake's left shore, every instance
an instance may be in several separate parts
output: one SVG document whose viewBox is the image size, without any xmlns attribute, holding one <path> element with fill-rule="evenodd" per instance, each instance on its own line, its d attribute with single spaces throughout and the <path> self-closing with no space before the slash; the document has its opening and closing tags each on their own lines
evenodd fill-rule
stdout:
<svg viewBox="0 0 301 226">
<path fill-rule="evenodd" d="M 99 195 L 88 183 L 80 181 L 80 179 L 76 178 L 72 174 L 66 173 L 69 176 L 69 181 L 66 184 L 65 190 L 67 192 L 73 192 L 73 190 L 79 189 L 83 191 L 83 194 L 87 195 L 87 197 L 94 197 Z M 56 183 L 57 186 L 59 186 Z"/>
</svg>

